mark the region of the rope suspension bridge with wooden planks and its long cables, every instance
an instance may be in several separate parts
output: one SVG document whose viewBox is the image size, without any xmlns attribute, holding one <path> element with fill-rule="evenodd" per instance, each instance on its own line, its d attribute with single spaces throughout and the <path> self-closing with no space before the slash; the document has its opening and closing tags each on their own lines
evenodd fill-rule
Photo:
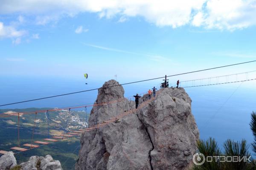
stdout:
<svg viewBox="0 0 256 170">
<path fill-rule="evenodd" d="M 256 62 L 256 61 L 250 61 L 250 62 Z M 238 63 L 238 64 L 233 64 L 233 65 L 239 65 L 239 64 L 245 64 L 248 62 L 243 62 L 243 63 Z M 233 65 L 226 65 L 226 66 L 221 66 L 221 67 L 216 67 L 216 68 L 223 68 L 223 67 L 229 67 L 229 66 L 233 66 Z M 199 71 L 206 71 L 206 70 L 210 70 L 210 69 L 216 69 L 216 68 L 209 68 L 209 69 L 204 69 L 204 70 L 199 70 Z M 195 72 L 199 72 L 199 71 L 192 71 L 192 72 L 187 72 L 187 73 L 183 73 L 183 74 L 190 74 L 190 73 L 195 73 Z M 183 75 L 183 74 L 175 74 L 172 76 L 166 76 L 166 77 L 173 77 L 173 76 L 177 76 L 177 75 Z M 252 77 L 253 76 L 253 77 Z M 162 79 L 162 78 L 166 78 L 166 77 L 157 77 L 154 79 Z M 223 80 L 224 78 L 224 80 Z M 144 82 L 144 81 L 149 81 L 149 80 L 153 80 L 153 79 L 147 79 L 147 80 L 141 80 L 141 81 L 137 81 L 137 82 Z M 252 80 L 256 80 L 256 71 L 248 71 L 248 72 L 242 72 L 242 73 L 236 73 L 236 74 L 229 74 L 229 75 L 221 75 L 221 76 L 217 76 L 217 77 L 208 77 L 208 78 L 202 78 L 202 79 L 193 79 L 193 80 L 187 80 L 187 81 L 181 81 L 180 82 L 180 87 L 182 88 L 192 88 L 192 87 L 200 87 L 200 86 L 209 86 L 209 85 L 221 85 L 221 84 L 229 84 L 229 83 L 236 83 L 236 82 L 246 82 L 246 81 L 252 81 Z M 127 85 L 127 84 L 131 84 L 131 83 L 137 83 L 137 82 L 130 82 L 130 83 L 124 83 L 124 84 L 120 84 L 120 85 Z M 174 83 L 175 84 L 175 83 Z M 115 87 L 118 85 L 113 85 L 113 86 L 108 86 L 107 88 L 111 88 L 111 87 Z M 160 85 L 157 85 L 157 87 L 160 89 Z M 90 90 L 86 90 L 86 91 L 93 91 L 93 90 L 98 90 L 100 88 L 95 88 L 95 89 L 90 89 Z M 86 91 L 79 91 L 79 92 L 73 92 L 73 93 L 69 93 L 69 94 L 61 94 L 61 95 L 57 95 L 57 96 L 49 96 L 49 97 L 44 97 L 44 98 L 39 98 L 39 99 L 32 99 L 32 100 L 27 100 L 27 101 L 22 101 L 22 102 L 30 102 L 30 101 L 35 101 L 35 100 L 41 100 L 41 99 L 48 99 L 48 98 L 52 98 L 52 97 L 58 97 L 58 96 L 64 96 L 64 95 L 70 95 L 70 94 L 76 94 L 76 93 L 81 93 L 81 92 L 86 92 Z M 146 94 L 147 92 L 144 92 L 140 95 Z M 157 91 L 158 93 L 158 91 Z M 157 96 L 157 94 L 156 94 Z M 128 99 L 131 99 L 131 97 L 127 97 Z M 126 98 L 126 99 L 127 99 Z M 91 126 L 91 127 L 84 127 L 84 128 L 80 128 L 80 129 L 73 129 L 73 130 L 67 130 L 67 124 L 69 121 L 69 117 L 70 117 L 70 111 L 72 109 L 77 109 L 77 108 L 84 108 L 85 109 L 85 122 L 87 122 L 87 113 L 86 113 L 86 109 L 88 107 L 93 107 L 93 106 L 103 106 L 103 105 L 110 105 L 113 103 L 118 103 L 121 102 L 122 100 L 124 100 L 125 97 L 116 99 L 116 100 L 112 100 L 110 102 L 102 102 L 102 103 L 96 103 L 96 104 L 91 104 L 91 105 L 79 105 L 79 106 L 74 106 L 74 107 L 64 107 L 64 108 L 55 108 L 55 109 L 50 109 L 50 110 L 38 110 L 38 111 L 27 111 L 27 112 L 22 112 L 22 113 L 16 113 L 16 112 L 9 112 L 9 113 L 1 113 L 0 114 L 0 118 L 6 118 L 6 117 L 10 117 L 10 116 L 17 116 L 17 146 L 15 147 L 11 147 L 9 150 L 12 150 L 14 153 L 20 153 L 20 152 L 24 152 L 27 150 L 32 150 L 47 144 L 51 144 L 53 142 L 58 142 L 61 140 L 65 140 L 65 139 L 69 139 L 75 136 L 79 136 L 81 133 L 87 133 L 90 132 L 91 130 L 97 130 L 99 128 L 102 128 L 110 123 L 114 123 L 116 122 L 118 119 L 122 119 L 124 116 L 128 116 L 129 114 L 133 114 L 135 113 L 138 109 L 142 108 L 143 106 L 147 105 L 148 102 L 151 102 L 155 99 L 155 97 L 152 97 L 151 99 L 147 99 L 145 101 L 143 101 L 142 103 L 140 103 L 139 107 L 137 109 L 131 109 L 129 111 L 124 111 L 122 113 L 116 114 L 116 116 L 111 117 L 108 120 L 105 120 L 103 122 L 96 122 L 95 125 Z M 9 104 L 4 104 L 4 105 L 0 105 L 0 106 L 6 106 L 6 105 L 13 105 L 13 104 L 17 104 L 17 103 L 22 103 L 22 102 L 15 102 L 15 103 L 9 103 Z M 64 129 L 64 133 L 58 136 L 50 136 L 49 135 L 49 113 L 54 112 L 54 111 L 61 111 L 61 110 L 67 110 L 67 120 L 66 120 L 66 125 L 65 127 L 62 127 Z M 36 127 L 36 118 L 37 115 L 39 113 L 45 113 L 46 117 L 47 117 L 47 138 L 41 139 L 41 140 L 34 140 L 34 135 L 35 135 L 35 127 Z M 33 125 L 33 129 L 32 129 L 32 134 L 31 134 L 31 142 L 26 142 L 21 144 L 20 142 L 20 117 L 23 115 L 28 115 L 28 114 L 33 114 L 35 115 L 35 119 L 34 119 L 34 125 Z M 7 153 L 9 150 L 0 150 L 0 154 L 5 154 Z"/>
</svg>

